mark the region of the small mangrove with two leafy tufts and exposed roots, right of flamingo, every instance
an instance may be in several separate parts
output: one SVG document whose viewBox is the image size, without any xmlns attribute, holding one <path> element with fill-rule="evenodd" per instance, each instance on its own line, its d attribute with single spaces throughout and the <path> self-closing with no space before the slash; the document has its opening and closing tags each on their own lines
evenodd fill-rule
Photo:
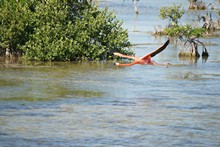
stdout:
<svg viewBox="0 0 220 147">
<path fill-rule="evenodd" d="M 199 45 L 202 45 L 202 56 L 208 57 L 209 54 L 205 45 L 198 40 L 204 36 L 206 29 L 192 25 L 179 25 L 178 22 L 183 14 L 184 9 L 181 8 L 181 5 L 162 7 L 160 17 L 169 21 L 169 25 L 164 29 L 163 34 L 179 39 L 184 43 L 184 48 L 180 51 L 179 57 L 200 57 Z"/>
</svg>

